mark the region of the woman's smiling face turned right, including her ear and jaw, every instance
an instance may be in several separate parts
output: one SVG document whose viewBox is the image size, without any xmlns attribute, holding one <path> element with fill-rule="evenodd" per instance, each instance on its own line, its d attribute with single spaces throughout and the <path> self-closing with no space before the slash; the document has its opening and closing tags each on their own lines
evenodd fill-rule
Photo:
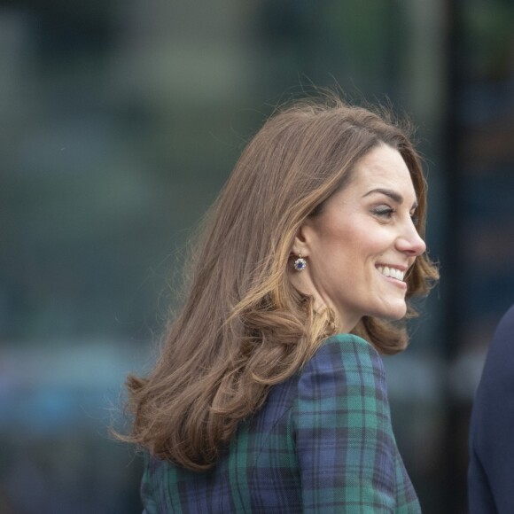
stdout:
<svg viewBox="0 0 514 514">
<path fill-rule="evenodd" d="M 385 144 L 374 148 L 300 227 L 292 253 L 308 264 L 290 270 L 292 284 L 313 295 L 316 308 L 332 308 L 341 331 L 351 331 L 363 315 L 400 319 L 407 310 L 404 277 L 425 250 L 416 206 L 401 154 Z"/>
</svg>

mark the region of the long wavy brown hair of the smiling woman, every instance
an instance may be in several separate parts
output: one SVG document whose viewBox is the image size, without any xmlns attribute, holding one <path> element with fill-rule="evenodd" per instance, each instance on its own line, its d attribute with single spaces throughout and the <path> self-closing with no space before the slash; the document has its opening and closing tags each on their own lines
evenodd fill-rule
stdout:
<svg viewBox="0 0 514 514">
<path fill-rule="evenodd" d="M 423 237 L 422 167 L 409 132 L 391 115 L 331 96 L 287 105 L 264 124 L 208 216 L 189 292 L 158 362 L 148 377 L 128 377 L 134 420 L 124 440 L 190 470 L 211 468 L 269 388 L 338 332 L 331 309 L 315 312 L 314 300 L 290 284 L 292 241 L 378 144 L 400 152 L 409 168 Z M 408 299 L 426 294 L 437 277 L 428 257 L 418 257 L 406 279 Z M 354 333 L 385 354 L 408 341 L 403 324 L 370 316 Z"/>
</svg>

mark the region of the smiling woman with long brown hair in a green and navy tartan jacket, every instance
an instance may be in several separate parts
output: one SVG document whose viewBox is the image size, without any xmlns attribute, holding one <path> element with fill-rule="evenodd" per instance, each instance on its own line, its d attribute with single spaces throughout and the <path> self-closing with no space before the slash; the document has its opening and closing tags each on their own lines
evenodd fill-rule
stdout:
<svg viewBox="0 0 514 514">
<path fill-rule="evenodd" d="M 391 121 L 276 113 L 210 215 L 148 378 L 128 378 L 152 512 L 418 512 L 379 353 L 437 278 L 425 183 Z"/>
</svg>

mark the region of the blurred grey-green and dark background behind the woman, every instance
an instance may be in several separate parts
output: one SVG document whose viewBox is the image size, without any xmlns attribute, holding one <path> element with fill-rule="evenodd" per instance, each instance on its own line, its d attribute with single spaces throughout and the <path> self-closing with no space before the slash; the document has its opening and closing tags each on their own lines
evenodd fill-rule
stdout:
<svg viewBox="0 0 514 514">
<path fill-rule="evenodd" d="M 424 512 L 466 512 L 471 401 L 514 303 L 512 27 L 511 0 L 0 0 L 0 512 L 141 511 L 140 457 L 109 435 L 124 377 L 245 141 L 311 84 L 419 127 L 442 278 L 385 365 Z"/>
</svg>

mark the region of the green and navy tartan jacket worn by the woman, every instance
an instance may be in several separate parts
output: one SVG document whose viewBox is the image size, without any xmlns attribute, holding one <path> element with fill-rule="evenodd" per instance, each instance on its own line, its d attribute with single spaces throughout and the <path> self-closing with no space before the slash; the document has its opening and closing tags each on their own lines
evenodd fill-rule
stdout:
<svg viewBox="0 0 514 514">
<path fill-rule="evenodd" d="M 391 426 L 385 372 L 364 339 L 327 339 L 272 387 L 213 470 L 145 456 L 144 514 L 418 513 Z"/>
</svg>

